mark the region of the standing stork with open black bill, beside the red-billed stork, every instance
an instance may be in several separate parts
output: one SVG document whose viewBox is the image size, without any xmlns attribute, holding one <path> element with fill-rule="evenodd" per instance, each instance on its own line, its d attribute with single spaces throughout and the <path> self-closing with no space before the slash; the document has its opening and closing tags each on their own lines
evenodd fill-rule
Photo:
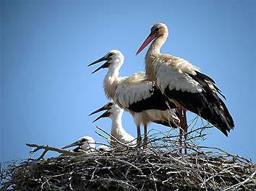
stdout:
<svg viewBox="0 0 256 191">
<path fill-rule="evenodd" d="M 132 74 L 128 77 L 119 77 L 119 69 L 124 63 L 124 55 L 119 50 L 111 50 L 102 58 L 90 63 L 106 61 L 102 66 L 93 71 L 93 74 L 101 68 L 108 68 L 103 81 L 103 88 L 108 99 L 113 99 L 119 107 L 127 110 L 132 115 L 137 126 L 137 144 L 140 145 L 140 125 L 144 125 L 144 147 L 147 143 L 148 123 L 176 128 L 179 125 L 179 117 L 176 116 L 176 105 L 166 99 L 151 81 L 146 79 L 144 72 Z"/>
</svg>

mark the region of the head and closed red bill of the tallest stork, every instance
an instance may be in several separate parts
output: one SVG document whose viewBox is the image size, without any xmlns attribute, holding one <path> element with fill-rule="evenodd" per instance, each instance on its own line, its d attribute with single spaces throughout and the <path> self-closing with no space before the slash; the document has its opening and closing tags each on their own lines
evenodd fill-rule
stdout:
<svg viewBox="0 0 256 191">
<path fill-rule="evenodd" d="M 163 35 L 168 35 L 168 27 L 163 23 L 155 23 L 151 28 L 151 32 L 146 38 L 146 40 L 142 43 L 139 50 L 137 50 L 137 54 L 139 54 L 152 40 L 158 37 L 162 37 Z"/>
</svg>

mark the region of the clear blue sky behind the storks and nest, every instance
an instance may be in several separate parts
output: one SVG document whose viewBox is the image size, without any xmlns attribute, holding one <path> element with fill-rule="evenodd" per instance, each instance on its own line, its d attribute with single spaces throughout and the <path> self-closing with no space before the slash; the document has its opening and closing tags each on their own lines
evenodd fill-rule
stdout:
<svg viewBox="0 0 256 191">
<path fill-rule="evenodd" d="M 210 130 L 203 143 L 256 159 L 256 1 L 3 1 L 1 0 L 0 161 L 25 159 L 25 143 L 61 147 L 95 134 L 88 114 L 106 103 L 103 76 L 88 63 L 111 49 L 124 53 L 120 75 L 144 70 L 135 56 L 150 27 L 164 22 L 162 48 L 215 79 L 235 128 Z M 132 117 L 124 128 L 136 136 Z M 97 123 L 109 131 L 111 123 Z M 150 128 L 156 127 L 151 124 Z"/>
</svg>

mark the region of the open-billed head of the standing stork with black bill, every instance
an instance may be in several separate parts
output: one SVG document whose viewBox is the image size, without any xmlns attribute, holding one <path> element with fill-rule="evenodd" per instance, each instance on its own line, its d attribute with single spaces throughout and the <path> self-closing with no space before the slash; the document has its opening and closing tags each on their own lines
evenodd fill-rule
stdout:
<svg viewBox="0 0 256 191">
<path fill-rule="evenodd" d="M 94 61 L 93 63 L 90 63 L 88 66 L 92 66 L 95 63 L 99 63 L 102 61 L 106 61 L 106 63 L 103 63 L 103 65 L 95 69 L 95 71 L 93 71 L 93 74 L 96 71 L 99 71 L 101 68 L 120 68 L 121 65 L 124 63 L 124 55 L 119 50 L 110 50 L 102 58 Z"/>
</svg>

